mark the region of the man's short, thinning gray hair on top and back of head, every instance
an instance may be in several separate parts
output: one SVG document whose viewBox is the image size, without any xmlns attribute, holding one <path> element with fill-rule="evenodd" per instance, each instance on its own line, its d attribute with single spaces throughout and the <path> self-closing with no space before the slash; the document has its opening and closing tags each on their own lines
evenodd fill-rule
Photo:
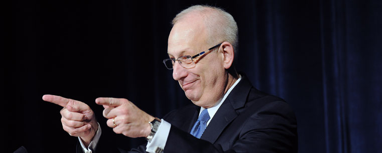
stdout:
<svg viewBox="0 0 382 153">
<path fill-rule="evenodd" d="M 205 6 L 205 5 L 196 5 L 183 10 L 172 21 L 174 26 L 178 21 L 182 20 L 187 14 L 191 12 L 200 13 L 204 20 L 204 23 L 207 27 L 209 39 L 209 45 L 216 45 L 226 41 L 232 44 L 233 50 L 235 52 L 235 58 L 237 57 L 237 45 L 238 45 L 238 32 L 237 24 L 233 17 L 225 12 L 223 9 Z"/>
</svg>

